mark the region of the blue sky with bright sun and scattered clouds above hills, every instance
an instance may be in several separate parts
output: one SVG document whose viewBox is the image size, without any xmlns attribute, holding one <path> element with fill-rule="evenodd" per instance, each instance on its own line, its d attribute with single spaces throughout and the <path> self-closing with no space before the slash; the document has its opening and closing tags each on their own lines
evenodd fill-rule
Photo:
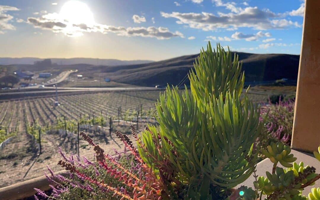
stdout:
<svg viewBox="0 0 320 200">
<path fill-rule="evenodd" d="M 0 57 L 164 60 L 208 41 L 300 54 L 302 0 L 0 0 Z"/>
</svg>

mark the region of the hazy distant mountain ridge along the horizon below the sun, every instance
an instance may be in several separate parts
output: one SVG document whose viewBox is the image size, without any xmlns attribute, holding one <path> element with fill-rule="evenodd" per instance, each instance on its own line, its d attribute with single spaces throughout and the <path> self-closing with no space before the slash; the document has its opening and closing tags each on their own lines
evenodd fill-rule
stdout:
<svg viewBox="0 0 320 200">
<path fill-rule="evenodd" d="M 40 58 L 0 58 L 0 65 L 33 65 L 35 61 L 41 61 Z M 51 58 L 52 63 L 58 65 L 75 65 L 75 64 L 89 64 L 89 65 L 138 65 L 143 63 L 153 62 L 152 60 L 116 60 L 116 59 L 95 59 L 95 58 Z"/>
</svg>

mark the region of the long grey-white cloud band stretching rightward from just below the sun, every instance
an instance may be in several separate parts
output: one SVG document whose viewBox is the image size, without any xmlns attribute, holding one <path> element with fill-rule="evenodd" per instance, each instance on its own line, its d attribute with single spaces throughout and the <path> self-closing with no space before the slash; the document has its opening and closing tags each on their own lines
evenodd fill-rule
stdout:
<svg viewBox="0 0 320 200">
<path fill-rule="evenodd" d="M 58 13 L 48 13 L 41 17 L 29 17 L 27 23 L 35 28 L 51 30 L 54 33 L 63 33 L 66 36 L 82 36 L 84 33 L 98 32 L 102 34 L 115 33 L 119 36 L 141 36 L 154 37 L 159 40 L 170 39 L 172 37 L 184 38 L 179 31 L 171 32 L 163 27 L 116 27 L 104 24 L 73 24 L 61 18 Z"/>
</svg>

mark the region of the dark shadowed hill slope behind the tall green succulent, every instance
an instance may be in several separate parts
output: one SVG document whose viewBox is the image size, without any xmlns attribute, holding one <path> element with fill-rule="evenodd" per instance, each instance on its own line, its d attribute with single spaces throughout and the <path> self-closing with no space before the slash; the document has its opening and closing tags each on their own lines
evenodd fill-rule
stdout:
<svg viewBox="0 0 320 200">
<path fill-rule="evenodd" d="M 297 79 L 299 55 L 252 54 L 236 52 L 243 61 L 246 81 L 270 81 L 281 78 Z M 99 66 L 113 81 L 154 86 L 178 84 L 186 76 L 199 54 L 181 56 L 139 65 Z M 188 80 L 187 80 L 188 81 Z M 185 82 L 188 84 L 188 82 Z"/>
</svg>

